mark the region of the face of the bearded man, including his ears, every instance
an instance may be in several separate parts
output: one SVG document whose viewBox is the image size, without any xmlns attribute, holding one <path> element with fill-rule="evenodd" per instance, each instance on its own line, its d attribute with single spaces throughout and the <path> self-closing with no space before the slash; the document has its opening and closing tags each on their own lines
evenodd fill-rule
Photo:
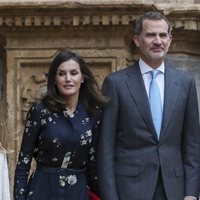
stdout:
<svg viewBox="0 0 200 200">
<path fill-rule="evenodd" d="M 163 19 L 144 20 L 141 34 L 134 36 L 134 42 L 141 52 L 141 58 L 152 67 L 158 67 L 162 63 L 171 40 L 168 24 Z"/>
</svg>

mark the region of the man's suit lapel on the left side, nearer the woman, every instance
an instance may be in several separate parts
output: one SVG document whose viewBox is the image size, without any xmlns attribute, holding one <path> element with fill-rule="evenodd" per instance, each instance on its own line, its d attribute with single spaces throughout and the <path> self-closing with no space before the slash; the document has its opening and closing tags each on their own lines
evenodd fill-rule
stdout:
<svg viewBox="0 0 200 200">
<path fill-rule="evenodd" d="M 154 136 L 157 140 L 157 134 L 153 126 L 153 121 L 151 117 L 151 111 L 149 107 L 148 96 L 144 86 L 144 81 L 140 72 L 139 64 L 136 62 L 133 66 L 127 68 L 127 87 L 133 97 L 133 100 L 143 118 L 147 127 L 150 131 L 154 133 Z"/>
</svg>

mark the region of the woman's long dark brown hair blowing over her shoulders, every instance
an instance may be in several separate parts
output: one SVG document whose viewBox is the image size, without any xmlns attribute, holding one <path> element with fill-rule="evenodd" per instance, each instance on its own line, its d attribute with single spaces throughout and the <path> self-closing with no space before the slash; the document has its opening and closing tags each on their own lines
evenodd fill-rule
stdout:
<svg viewBox="0 0 200 200">
<path fill-rule="evenodd" d="M 47 94 L 42 99 L 42 102 L 54 111 L 60 111 L 65 108 L 64 100 L 55 84 L 55 77 L 58 67 L 68 60 L 74 60 L 80 65 L 84 82 L 80 87 L 79 101 L 84 104 L 88 112 L 93 113 L 96 110 L 96 106 L 103 105 L 108 99 L 101 94 L 100 88 L 84 59 L 67 48 L 60 50 L 50 65 L 47 81 Z"/>
</svg>

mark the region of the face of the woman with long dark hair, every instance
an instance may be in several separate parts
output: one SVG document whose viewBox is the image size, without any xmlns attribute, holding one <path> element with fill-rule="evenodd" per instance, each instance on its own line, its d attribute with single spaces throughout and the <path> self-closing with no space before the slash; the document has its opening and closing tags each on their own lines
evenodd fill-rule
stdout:
<svg viewBox="0 0 200 200">
<path fill-rule="evenodd" d="M 72 59 L 61 63 L 57 69 L 55 81 L 62 97 L 78 98 L 83 82 L 80 65 Z"/>
</svg>

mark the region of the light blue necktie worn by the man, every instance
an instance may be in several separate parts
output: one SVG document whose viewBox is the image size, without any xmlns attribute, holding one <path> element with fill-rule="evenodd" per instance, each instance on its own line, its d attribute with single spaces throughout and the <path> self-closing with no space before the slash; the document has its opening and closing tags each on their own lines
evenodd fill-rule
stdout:
<svg viewBox="0 0 200 200">
<path fill-rule="evenodd" d="M 159 138 L 161 123 L 162 123 L 162 103 L 160 97 L 160 90 L 156 82 L 156 76 L 158 75 L 159 70 L 152 70 L 150 73 L 152 79 L 149 88 L 149 102 L 150 102 L 151 115 L 153 118 L 154 127 L 156 129 Z"/>
</svg>

